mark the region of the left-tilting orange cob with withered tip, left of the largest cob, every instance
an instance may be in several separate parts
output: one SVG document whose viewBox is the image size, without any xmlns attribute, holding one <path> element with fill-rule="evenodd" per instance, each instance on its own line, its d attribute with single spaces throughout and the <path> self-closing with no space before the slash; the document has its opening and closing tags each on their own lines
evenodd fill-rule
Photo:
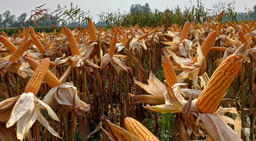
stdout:
<svg viewBox="0 0 256 141">
<path fill-rule="evenodd" d="M 174 84 L 178 83 L 178 79 L 174 72 L 172 61 L 162 49 L 161 49 L 161 57 L 162 57 L 162 66 L 163 66 L 163 72 L 165 74 L 165 79 L 171 86 L 173 86 Z"/>
</svg>

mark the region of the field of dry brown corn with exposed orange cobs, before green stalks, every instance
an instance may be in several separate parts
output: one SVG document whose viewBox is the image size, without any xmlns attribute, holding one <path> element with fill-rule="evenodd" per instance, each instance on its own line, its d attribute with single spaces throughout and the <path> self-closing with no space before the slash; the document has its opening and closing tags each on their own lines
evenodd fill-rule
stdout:
<svg viewBox="0 0 256 141">
<path fill-rule="evenodd" d="M 256 24 L 224 16 L 3 31 L 0 140 L 255 140 Z"/>
</svg>

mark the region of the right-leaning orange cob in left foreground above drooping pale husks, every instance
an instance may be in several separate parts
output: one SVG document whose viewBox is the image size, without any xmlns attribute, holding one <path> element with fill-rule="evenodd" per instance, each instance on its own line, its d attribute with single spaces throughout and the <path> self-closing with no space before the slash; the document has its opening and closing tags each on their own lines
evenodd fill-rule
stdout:
<svg viewBox="0 0 256 141">
<path fill-rule="evenodd" d="M 46 74 L 47 69 L 49 68 L 50 60 L 48 58 L 43 59 L 43 61 L 38 65 L 33 73 L 31 79 L 29 80 L 25 93 L 32 92 L 34 95 L 37 94 L 41 83 L 43 81 L 44 75 Z"/>
</svg>

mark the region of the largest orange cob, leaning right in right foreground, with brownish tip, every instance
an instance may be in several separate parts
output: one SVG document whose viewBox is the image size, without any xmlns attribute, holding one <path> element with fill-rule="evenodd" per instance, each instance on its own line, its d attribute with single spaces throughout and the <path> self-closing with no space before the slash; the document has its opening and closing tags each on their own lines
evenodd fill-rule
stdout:
<svg viewBox="0 0 256 141">
<path fill-rule="evenodd" d="M 218 108 L 222 97 L 238 73 L 246 49 L 246 44 L 241 45 L 234 54 L 228 56 L 215 70 L 196 100 L 197 108 L 203 113 L 213 114 Z"/>
</svg>

